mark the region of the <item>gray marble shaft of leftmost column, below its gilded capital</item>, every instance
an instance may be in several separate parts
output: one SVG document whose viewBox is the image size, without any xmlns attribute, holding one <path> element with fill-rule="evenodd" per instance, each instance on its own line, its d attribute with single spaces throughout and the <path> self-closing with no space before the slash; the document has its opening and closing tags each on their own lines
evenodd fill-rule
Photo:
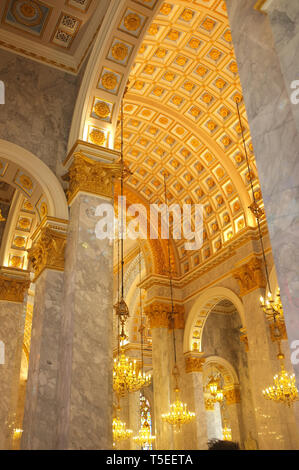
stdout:
<svg viewBox="0 0 299 470">
<path fill-rule="evenodd" d="M 0 301 L 0 341 L 4 343 L 4 364 L 0 364 L 0 449 L 12 445 L 17 408 L 25 324 L 23 303 Z M 2 362 L 2 360 L 1 360 Z"/>
</svg>

